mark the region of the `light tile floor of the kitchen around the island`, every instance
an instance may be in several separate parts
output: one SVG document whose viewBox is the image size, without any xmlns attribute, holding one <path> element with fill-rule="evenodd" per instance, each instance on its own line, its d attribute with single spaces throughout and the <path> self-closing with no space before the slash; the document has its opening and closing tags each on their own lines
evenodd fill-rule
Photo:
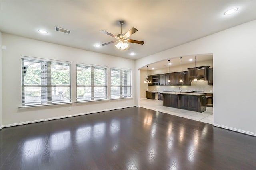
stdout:
<svg viewBox="0 0 256 170">
<path fill-rule="evenodd" d="M 201 121 L 204 123 L 213 123 L 213 108 L 206 107 L 206 111 L 198 113 L 196 111 L 188 111 L 183 109 L 176 109 L 172 107 L 163 106 L 163 101 L 154 99 L 141 99 L 140 107 L 151 109 L 155 111 L 160 111 L 163 113 L 168 113 L 170 115 L 176 115 L 180 117 L 185 117 L 187 119 L 192 119 L 196 121 Z"/>
</svg>

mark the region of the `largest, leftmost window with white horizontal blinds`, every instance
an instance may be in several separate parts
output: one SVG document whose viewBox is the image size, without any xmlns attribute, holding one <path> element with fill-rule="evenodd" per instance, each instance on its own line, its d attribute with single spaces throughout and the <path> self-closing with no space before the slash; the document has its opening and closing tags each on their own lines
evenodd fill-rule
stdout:
<svg viewBox="0 0 256 170">
<path fill-rule="evenodd" d="M 71 102 L 70 63 L 22 58 L 22 106 Z"/>
</svg>

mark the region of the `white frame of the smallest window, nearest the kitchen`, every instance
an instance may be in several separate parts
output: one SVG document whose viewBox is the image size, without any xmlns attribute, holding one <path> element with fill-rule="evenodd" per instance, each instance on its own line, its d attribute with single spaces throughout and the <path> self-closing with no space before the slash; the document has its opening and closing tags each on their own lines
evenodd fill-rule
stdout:
<svg viewBox="0 0 256 170">
<path fill-rule="evenodd" d="M 119 85 L 112 85 L 110 82 L 110 88 L 111 87 L 119 87 L 120 89 L 120 95 L 119 96 L 114 96 L 112 95 L 112 89 L 110 89 L 110 98 L 111 99 L 120 99 L 120 98 L 132 98 L 132 70 L 128 70 L 128 69 L 121 69 L 121 68 L 110 68 L 110 78 L 112 77 L 111 75 L 111 71 L 112 70 L 116 70 L 116 71 L 119 71 L 119 78 L 120 78 L 120 84 Z M 130 85 L 122 85 L 122 72 L 130 72 L 130 77 L 129 78 L 126 78 L 126 80 L 130 79 Z M 125 82 L 125 84 L 127 84 L 127 82 Z M 127 95 L 127 94 L 122 94 L 122 88 L 123 87 L 130 87 L 130 96 Z"/>
</svg>

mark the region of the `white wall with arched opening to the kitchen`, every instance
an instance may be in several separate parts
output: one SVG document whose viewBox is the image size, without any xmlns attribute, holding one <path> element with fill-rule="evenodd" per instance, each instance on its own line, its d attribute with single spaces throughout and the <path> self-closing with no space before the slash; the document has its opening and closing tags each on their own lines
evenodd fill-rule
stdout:
<svg viewBox="0 0 256 170">
<path fill-rule="evenodd" d="M 136 69 L 185 55 L 213 54 L 214 125 L 256 136 L 256 20 L 136 60 Z M 140 82 L 142 83 L 142 82 Z"/>
</svg>

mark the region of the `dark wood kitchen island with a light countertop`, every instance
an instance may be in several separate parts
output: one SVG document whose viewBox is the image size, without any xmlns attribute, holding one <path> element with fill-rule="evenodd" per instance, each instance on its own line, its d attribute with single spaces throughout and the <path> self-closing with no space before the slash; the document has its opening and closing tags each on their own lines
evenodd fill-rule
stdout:
<svg viewBox="0 0 256 170">
<path fill-rule="evenodd" d="M 205 93 L 161 92 L 163 106 L 174 107 L 197 112 L 204 112 Z"/>
</svg>

